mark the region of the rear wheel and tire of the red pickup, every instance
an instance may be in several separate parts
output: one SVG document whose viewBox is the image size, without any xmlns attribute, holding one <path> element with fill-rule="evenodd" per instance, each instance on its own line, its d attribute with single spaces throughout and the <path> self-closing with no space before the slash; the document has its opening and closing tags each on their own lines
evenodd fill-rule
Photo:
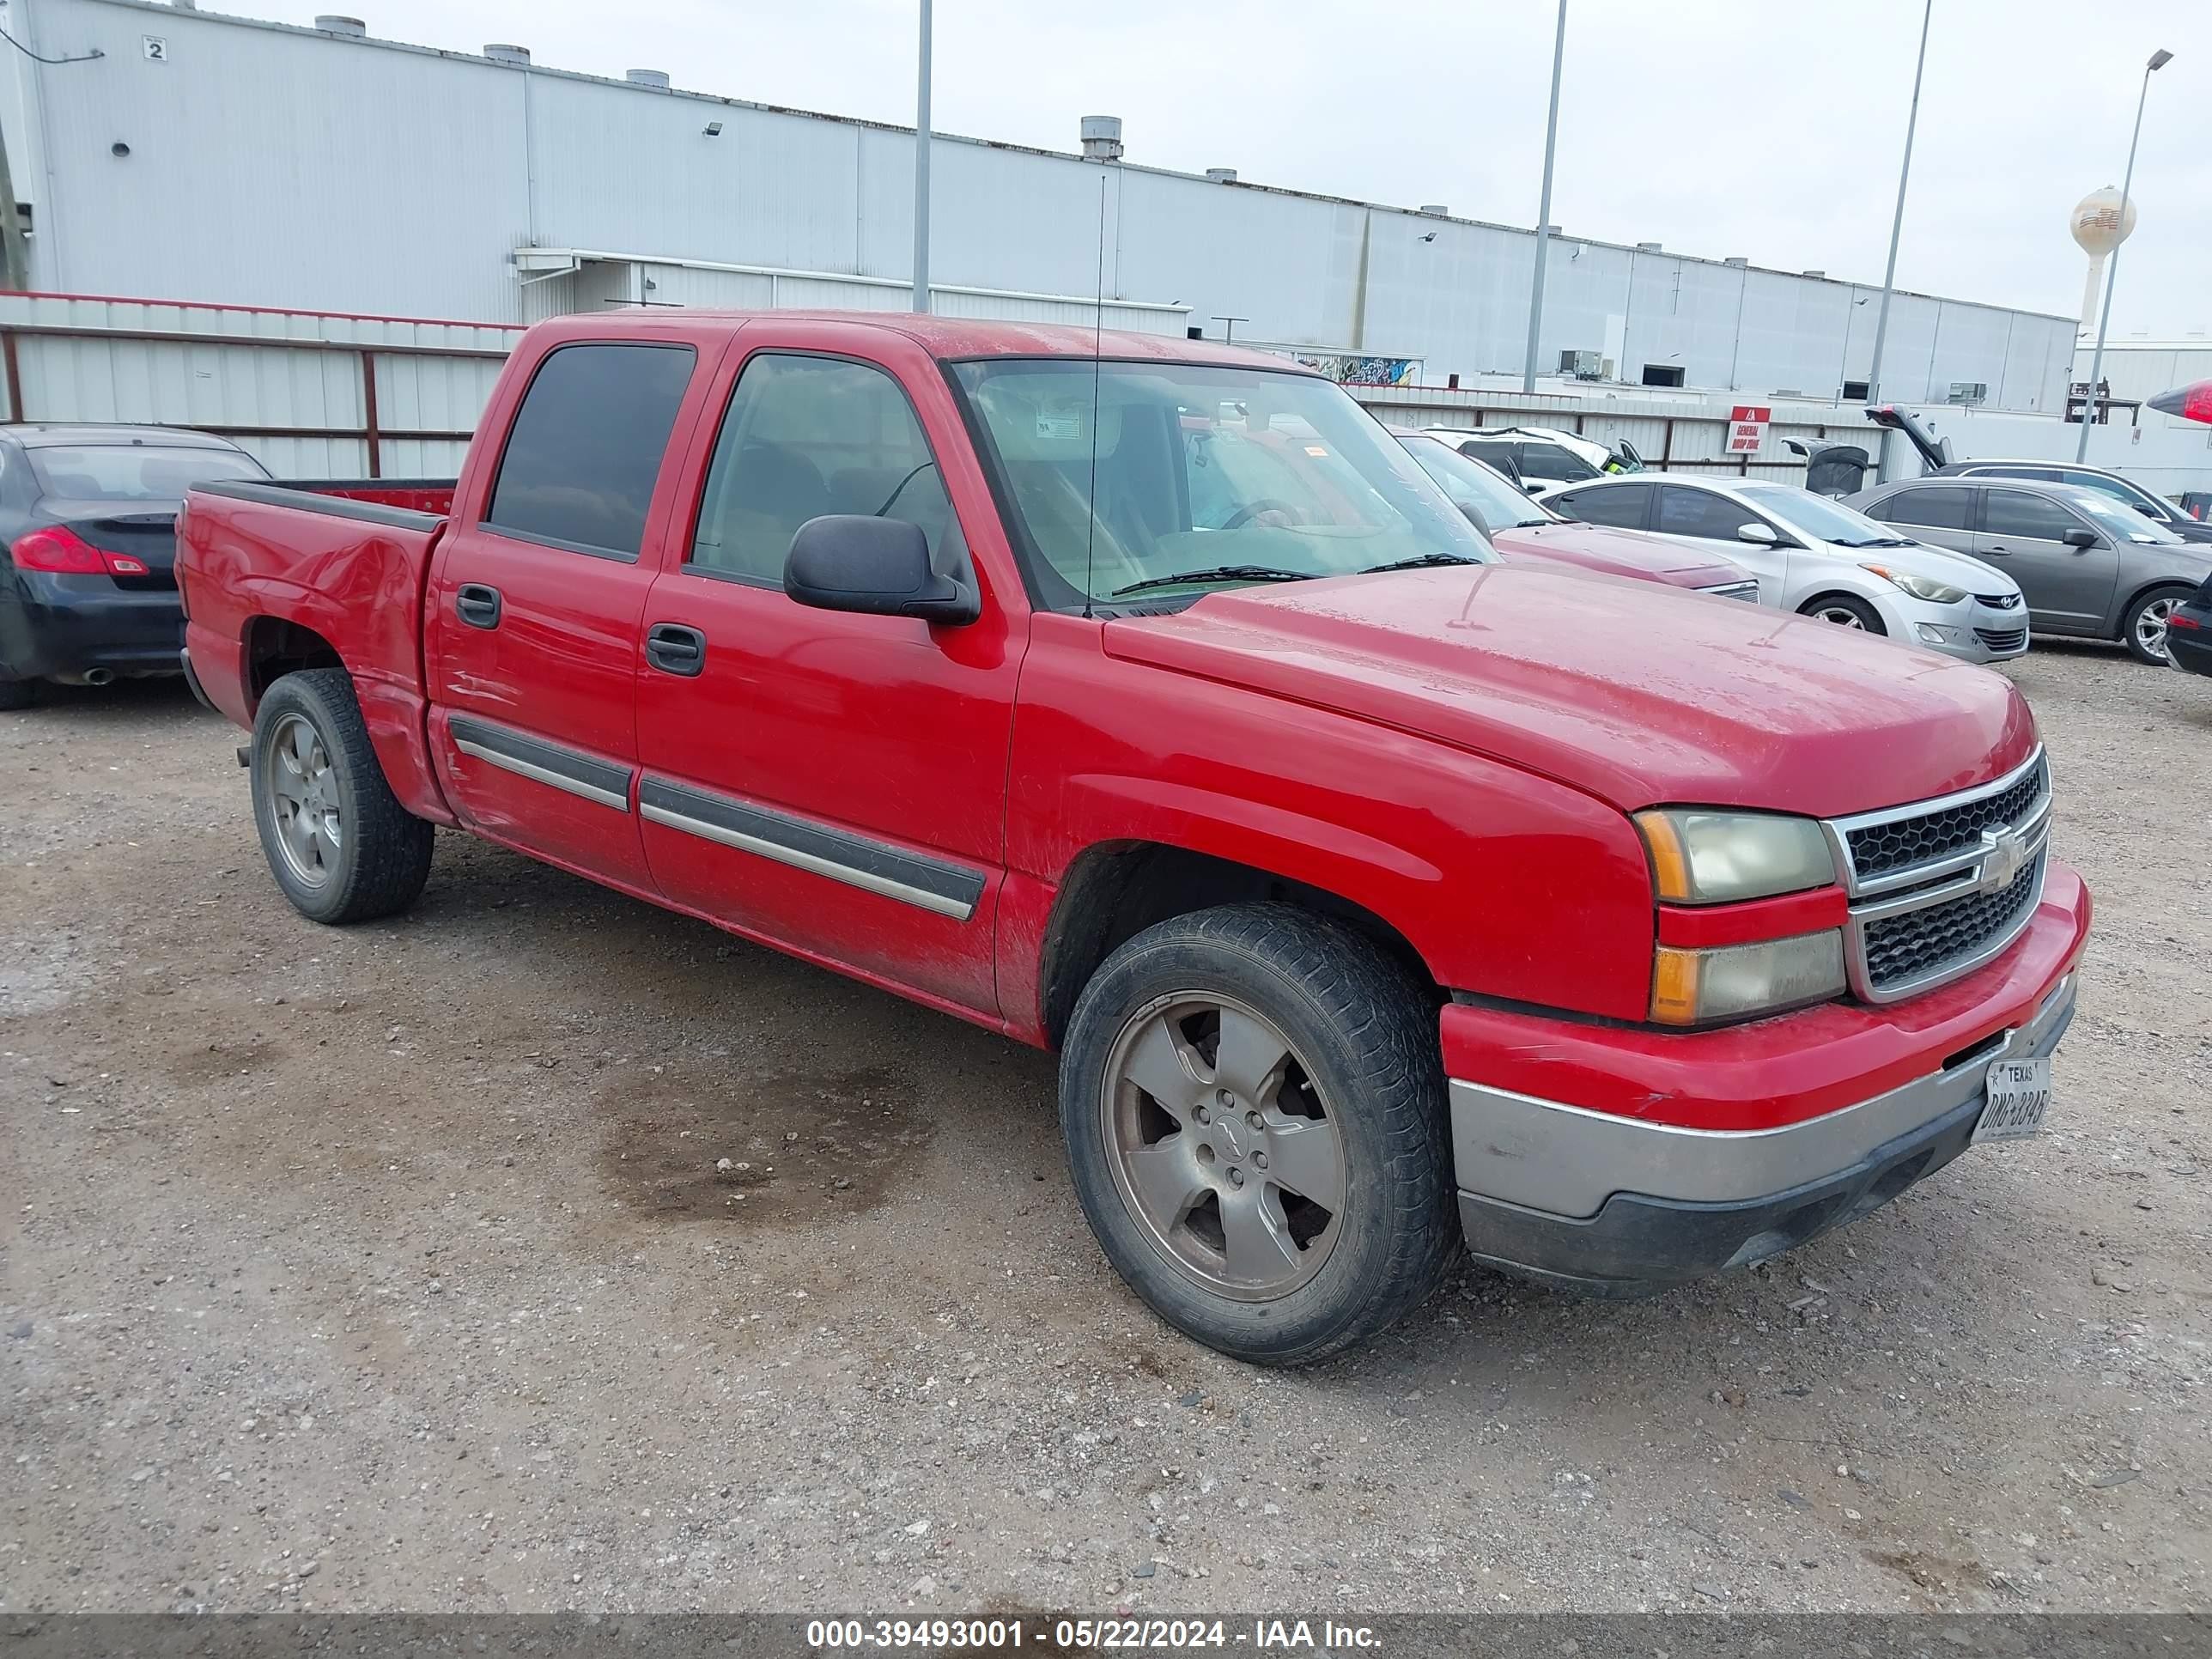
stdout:
<svg viewBox="0 0 2212 1659">
<path fill-rule="evenodd" d="M 422 891 L 431 825 L 392 796 L 343 668 L 268 688 L 254 714 L 252 792 L 261 854 L 301 916 L 367 922 Z"/>
</svg>

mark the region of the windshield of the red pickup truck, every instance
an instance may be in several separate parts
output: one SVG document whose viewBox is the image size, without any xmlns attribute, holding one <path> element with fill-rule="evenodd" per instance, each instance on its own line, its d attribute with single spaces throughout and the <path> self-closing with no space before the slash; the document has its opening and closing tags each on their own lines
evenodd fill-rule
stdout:
<svg viewBox="0 0 2212 1659">
<path fill-rule="evenodd" d="M 1329 380 L 1079 358 L 960 363 L 956 376 L 1053 608 L 1137 588 L 1177 599 L 1232 582 L 1491 557 L 1413 458 Z"/>
</svg>

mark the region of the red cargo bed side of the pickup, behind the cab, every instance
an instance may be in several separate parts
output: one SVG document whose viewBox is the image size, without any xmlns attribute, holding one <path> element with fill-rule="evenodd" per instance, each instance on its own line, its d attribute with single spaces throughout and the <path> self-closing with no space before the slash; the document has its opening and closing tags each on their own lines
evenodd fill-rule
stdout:
<svg viewBox="0 0 2212 1659">
<path fill-rule="evenodd" d="M 186 493 L 186 670 L 252 726 L 276 672 L 343 666 L 409 812 L 451 823 L 425 741 L 422 588 L 453 480 L 221 482 Z"/>
</svg>

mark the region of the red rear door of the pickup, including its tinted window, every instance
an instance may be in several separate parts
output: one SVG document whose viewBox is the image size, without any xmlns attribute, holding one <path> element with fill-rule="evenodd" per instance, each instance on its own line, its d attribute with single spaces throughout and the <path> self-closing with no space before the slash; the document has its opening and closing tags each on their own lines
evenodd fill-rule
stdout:
<svg viewBox="0 0 2212 1659">
<path fill-rule="evenodd" d="M 670 434 L 712 374 L 699 358 L 675 330 L 555 336 L 520 400 L 487 409 L 482 431 L 504 431 L 504 449 L 471 451 L 425 597 L 431 743 L 453 810 L 639 891 L 653 880 L 630 781 L 655 575 L 639 553 L 675 489 Z"/>
</svg>

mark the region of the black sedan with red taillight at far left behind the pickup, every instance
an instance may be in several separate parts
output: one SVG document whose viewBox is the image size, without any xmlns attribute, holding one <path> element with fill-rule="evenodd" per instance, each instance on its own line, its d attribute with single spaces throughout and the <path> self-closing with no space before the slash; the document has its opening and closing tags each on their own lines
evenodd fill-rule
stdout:
<svg viewBox="0 0 2212 1659">
<path fill-rule="evenodd" d="M 177 672 L 177 502 L 217 478 L 268 471 L 204 431 L 0 427 L 0 708 Z"/>
</svg>

